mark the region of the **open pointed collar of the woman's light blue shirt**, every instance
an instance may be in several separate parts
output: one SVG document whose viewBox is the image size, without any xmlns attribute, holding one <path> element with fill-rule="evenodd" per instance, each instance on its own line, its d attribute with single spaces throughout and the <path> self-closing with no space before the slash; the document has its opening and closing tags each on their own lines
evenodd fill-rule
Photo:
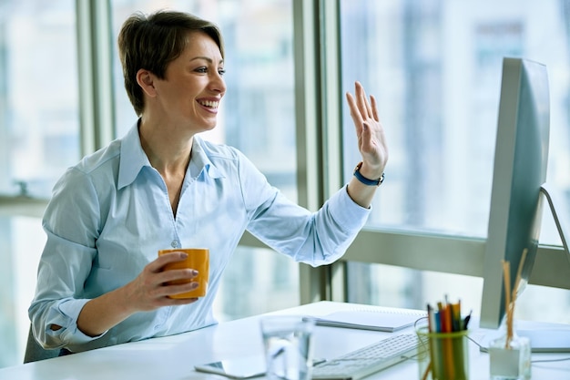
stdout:
<svg viewBox="0 0 570 380">
<path fill-rule="evenodd" d="M 212 179 L 222 178 L 223 174 L 217 169 L 204 148 L 203 140 L 194 136 L 192 142 L 192 158 L 191 165 L 196 168 L 197 176 L 205 171 Z M 137 179 L 138 173 L 144 167 L 151 168 L 147 154 L 140 145 L 140 136 L 138 135 L 138 121 L 130 128 L 127 135 L 121 139 L 121 154 L 118 167 L 117 188 L 120 190 L 130 185 Z M 187 175 L 190 171 L 188 168 Z"/>
</svg>

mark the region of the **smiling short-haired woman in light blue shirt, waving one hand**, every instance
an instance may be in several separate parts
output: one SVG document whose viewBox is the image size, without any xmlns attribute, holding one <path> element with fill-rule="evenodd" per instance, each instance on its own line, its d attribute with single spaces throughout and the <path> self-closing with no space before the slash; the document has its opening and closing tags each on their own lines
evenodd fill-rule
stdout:
<svg viewBox="0 0 570 380">
<path fill-rule="evenodd" d="M 29 315 L 46 348 L 70 352 L 215 324 L 212 303 L 245 230 L 297 262 L 345 252 L 370 212 L 388 159 L 376 104 L 360 84 L 347 94 L 362 162 L 311 213 L 286 200 L 237 149 L 200 139 L 216 127 L 226 92 L 217 26 L 194 15 L 132 15 L 118 37 L 125 87 L 139 117 L 123 139 L 81 160 L 57 182 Z M 207 247 L 209 291 L 173 299 L 193 270 L 163 271 Z"/>
</svg>

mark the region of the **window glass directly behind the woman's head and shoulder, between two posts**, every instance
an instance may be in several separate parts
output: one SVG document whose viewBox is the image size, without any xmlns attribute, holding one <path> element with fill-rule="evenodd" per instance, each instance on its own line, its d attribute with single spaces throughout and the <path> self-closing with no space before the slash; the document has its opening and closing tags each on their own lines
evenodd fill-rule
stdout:
<svg viewBox="0 0 570 380">
<path fill-rule="evenodd" d="M 215 22 L 225 44 L 227 93 L 218 126 L 206 139 L 240 149 L 293 201 L 297 200 L 292 2 L 209 1 L 112 3 L 113 38 L 136 11 L 187 11 Z M 115 44 L 116 46 L 117 44 Z M 123 86 L 114 53 L 117 137 L 137 118 Z M 299 304 L 298 264 L 263 248 L 240 247 L 224 273 L 217 297 L 220 319 L 234 319 Z M 255 294 L 255 297 L 243 297 Z M 239 300 L 239 302 L 236 302 Z"/>
</svg>

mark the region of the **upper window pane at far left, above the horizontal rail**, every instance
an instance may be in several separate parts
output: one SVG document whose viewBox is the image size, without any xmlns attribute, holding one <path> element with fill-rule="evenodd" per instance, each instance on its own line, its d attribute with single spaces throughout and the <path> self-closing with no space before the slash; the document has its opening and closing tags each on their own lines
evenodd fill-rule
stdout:
<svg viewBox="0 0 570 380">
<path fill-rule="evenodd" d="M 79 158 L 74 2 L 2 7 L 0 191 L 46 197 Z"/>
</svg>

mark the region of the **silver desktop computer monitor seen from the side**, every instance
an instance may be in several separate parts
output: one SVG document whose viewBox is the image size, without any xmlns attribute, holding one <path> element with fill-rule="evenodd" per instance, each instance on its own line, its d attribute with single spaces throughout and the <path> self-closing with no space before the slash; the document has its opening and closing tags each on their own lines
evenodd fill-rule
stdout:
<svg viewBox="0 0 570 380">
<path fill-rule="evenodd" d="M 546 189 L 549 129 L 546 67 L 526 59 L 505 57 L 483 265 L 480 327 L 494 329 L 504 317 L 502 262 L 510 263 L 513 289 L 523 252 L 527 252 L 517 293 L 523 291 L 532 271 L 546 199 L 541 191 Z M 547 200 L 554 211 L 550 199 Z M 565 243 L 563 230 L 557 220 L 556 223 Z M 567 345 L 570 347 L 570 342 Z"/>
</svg>

